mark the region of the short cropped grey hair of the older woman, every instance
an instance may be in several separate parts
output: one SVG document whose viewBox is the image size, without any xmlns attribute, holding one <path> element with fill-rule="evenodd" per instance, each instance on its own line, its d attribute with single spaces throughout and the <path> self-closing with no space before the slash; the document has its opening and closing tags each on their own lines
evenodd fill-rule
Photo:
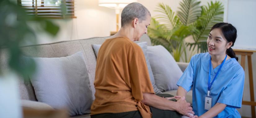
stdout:
<svg viewBox="0 0 256 118">
<path fill-rule="evenodd" d="M 121 27 L 131 22 L 134 18 L 138 18 L 141 21 L 146 19 L 147 14 L 150 14 L 149 10 L 138 2 L 133 2 L 124 7 L 121 13 Z"/>
</svg>

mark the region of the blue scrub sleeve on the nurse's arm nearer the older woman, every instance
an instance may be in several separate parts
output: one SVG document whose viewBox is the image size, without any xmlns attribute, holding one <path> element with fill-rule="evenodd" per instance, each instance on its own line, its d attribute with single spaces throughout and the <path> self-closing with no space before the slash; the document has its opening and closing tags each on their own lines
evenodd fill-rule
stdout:
<svg viewBox="0 0 256 118">
<path fill-rule="evenodd" d="M 183 87 L 187 92 L 193 86 L 194 78 L 194 56 L 191 58 L 190 63 L 188 64 L 186 70 L 182 74 L 181 78 L 177 82 L 177 86 Z"/>
</svg>

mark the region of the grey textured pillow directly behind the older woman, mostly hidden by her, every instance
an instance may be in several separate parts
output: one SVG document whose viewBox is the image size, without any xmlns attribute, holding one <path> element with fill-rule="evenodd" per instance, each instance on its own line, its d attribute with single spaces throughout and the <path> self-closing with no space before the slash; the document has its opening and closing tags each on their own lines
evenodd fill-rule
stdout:
<svg viewBox="0 0 256 118">
<path fill-rule="evenodd" d="M 154 75 L 153 75 L 153 72 L 152 72 L 151 67 L 150 67 L 148 54 L 146 53 L 147 52 L 147 42 L 141 42 L 141 43 L 137 43 L 137 44 L 141 47 L 141 49 L 144 53 L 146 63 L 147 63 L 147 67 L 148 67 L 149 76 L 150 76 L 150 81 L 151 81 L 151 84 L 154 88 L 154 92 L 155 92 L 155 94 L 160 94 L 162 92 L 155 86 Z M 93 44 L 92 47 L 95 51 L 96 56 L 98 56 L 98 52 L 99 52 L 99 49 L 100 49 L 101 45 Z"/>
</svg>

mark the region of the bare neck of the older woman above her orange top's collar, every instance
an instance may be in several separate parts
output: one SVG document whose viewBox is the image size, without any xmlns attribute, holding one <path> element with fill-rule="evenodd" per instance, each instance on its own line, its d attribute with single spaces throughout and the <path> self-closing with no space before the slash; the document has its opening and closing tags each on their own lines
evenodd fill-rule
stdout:
<svg viewBox="0 0 256 118">
<path fill-rule="evenodd" d="M 126 26 L 126 27 L 121 27 L 120 30 L 110 38 L 127 37 L 128 39 L 133 41 L 133 34 L 134 34 L 134 29 Z"/>
</svg>

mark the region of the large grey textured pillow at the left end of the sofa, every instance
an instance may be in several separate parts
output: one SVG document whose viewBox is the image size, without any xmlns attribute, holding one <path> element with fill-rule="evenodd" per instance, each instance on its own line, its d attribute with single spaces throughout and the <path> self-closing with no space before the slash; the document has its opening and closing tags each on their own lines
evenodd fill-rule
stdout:
<svg viewBox="0 0 256 118">
<path fill-rule="evenodd" d="M 29 57 L 25 57 L 25 62 Z M 33 58 L 36 71 L 30 76 L 39 102 L 67 108 L 70 116 L 90 113 L 93 102 L 83 52 L 60 58 Z"/>
</svg>

